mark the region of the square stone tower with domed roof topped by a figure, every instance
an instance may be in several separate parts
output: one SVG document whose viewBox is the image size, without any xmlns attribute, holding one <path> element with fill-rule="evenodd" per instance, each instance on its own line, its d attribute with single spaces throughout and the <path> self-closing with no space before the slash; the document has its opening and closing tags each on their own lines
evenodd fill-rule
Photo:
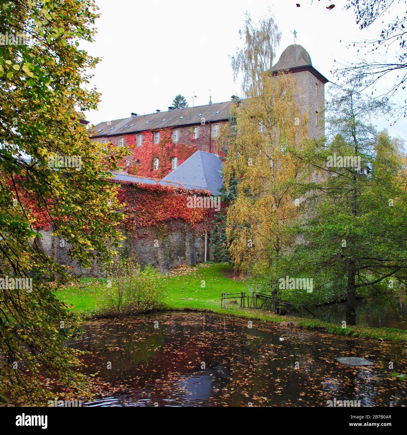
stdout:
<svg viewBox="0 0 407 435">
<path fill-rule="evenodd" d="M 310 138 L 325 133 L 323 109 L 325 107 L 325 84 L 328 79 L 317 71 L 307 50 L 298 44 L 289 45 L 272 67 L 273 75 L 291 73 L 297 82 L 296 100 L 301 112 L 308 111 L 308 134 Z"/>
</svg>

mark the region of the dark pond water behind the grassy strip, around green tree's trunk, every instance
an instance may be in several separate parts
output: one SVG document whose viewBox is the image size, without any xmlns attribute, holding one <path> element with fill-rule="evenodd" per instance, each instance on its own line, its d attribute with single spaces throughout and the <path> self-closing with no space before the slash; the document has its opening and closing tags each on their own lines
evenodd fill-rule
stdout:
<svg viewBox="0 0 407 435">
<path fill-rule="evenodd" d="M 346 304 L 338 303 L 313 308 L 316 318 L 331 323 L 341 323 L 346 318 Z M 375 328 L 407 329 L 407 304 L 405 297 L 385 301 L 358 300 L 356 325 Z"/>
</svg>

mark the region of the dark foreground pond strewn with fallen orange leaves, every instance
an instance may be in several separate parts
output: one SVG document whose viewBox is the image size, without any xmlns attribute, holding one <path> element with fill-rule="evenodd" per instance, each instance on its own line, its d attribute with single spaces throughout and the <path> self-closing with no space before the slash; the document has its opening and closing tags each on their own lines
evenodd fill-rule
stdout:
<svg viewBox="0 0 407 435">
<path fill-rule="evenodd" d="M 334 398 L 407 405 L 406 381 L 390 377 L 407 372 L 405 345 L 248 326 L 202 313 L 93 321 L 76 346 L 91 352 L 85 370 L 103 388 L 85 406 L 326 406 Z M 345 367 L 340 356 L 375 365 Z"/>
</svg>

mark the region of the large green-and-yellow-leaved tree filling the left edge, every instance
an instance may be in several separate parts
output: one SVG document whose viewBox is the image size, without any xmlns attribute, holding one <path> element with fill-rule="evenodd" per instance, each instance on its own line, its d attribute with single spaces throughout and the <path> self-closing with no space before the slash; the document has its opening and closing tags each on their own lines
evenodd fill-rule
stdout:
<svg viewBox="0 0 407 435">
<path fill-rule="evenodd" d="M 1 3 L 0 33 L 14 39 L 0 47 L 0 392 L 13 401 L 44 403 L 44 376 L 81 386 L 65 345 L 78 319 L 50 284 L 68 271 L 41 250 L 37 228 L 84 267 L 108 260 L 121 239 L 107 170 L 122 154 L 80 123 L 99 98 L 87 72 L 98 59 L 79 48 L 97 9 L 93 0 Z"/>
</svg>

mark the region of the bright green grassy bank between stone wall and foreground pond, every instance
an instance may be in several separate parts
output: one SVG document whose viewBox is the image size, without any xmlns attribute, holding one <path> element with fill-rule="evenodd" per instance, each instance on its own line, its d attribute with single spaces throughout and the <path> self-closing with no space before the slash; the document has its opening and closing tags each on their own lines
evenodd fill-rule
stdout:
<svg viewBox="0 0 407 435">
<path fill-rule="evenodd" d="M 105 283 L 104 279 L 84 278 L 57 291 L 57 297 L 71 305 L 74 311 L 82 313 L 85 317 L 92 317 L 95 308 L 100 306 L 100 289 Z M 240 308 L 240 298 L 237 299 L 237 304 L 231 303 L 229 299 L 225 310 L 220 307 L 222 291 L 247 292 L 246 281 L 233 275 L 229 264 L 205 264 L 194 268 L 178 269 L 165 276 L 165 309 L 211 311 L 286 325 L 291 323 L 293 326 L 320 329 L 338 335 L 407 341 L 407 331 L 365 326 L 342 328 L 341 325 L 309 318 L 279 316 L 265 310 Z"/>
</svg>

